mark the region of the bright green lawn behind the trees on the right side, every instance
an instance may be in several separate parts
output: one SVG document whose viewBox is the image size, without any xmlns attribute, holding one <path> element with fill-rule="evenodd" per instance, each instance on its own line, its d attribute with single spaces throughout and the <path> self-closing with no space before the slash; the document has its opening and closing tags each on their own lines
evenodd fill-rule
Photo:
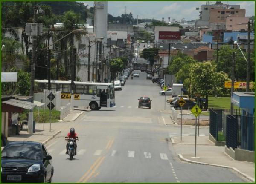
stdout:
<svg viewBox="0 0 256 184">
<path fill-rule="evenodd" d="M 230 109 L 230 97 L 208 97 L 208 108 L 215 109 Z M 234 109 L 239 109 L 238 106 L 234 106 Z"/>
</svg>

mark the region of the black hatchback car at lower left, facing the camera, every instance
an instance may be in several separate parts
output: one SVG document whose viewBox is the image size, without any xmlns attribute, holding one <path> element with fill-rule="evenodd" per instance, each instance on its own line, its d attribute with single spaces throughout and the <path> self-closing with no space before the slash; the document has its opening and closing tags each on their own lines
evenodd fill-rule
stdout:
<svg viewBox="0 0 256 184">
<path fill-rule="evenodd" d="M 7 144 L 1 154 L 3 182 L 52 182 L 52 157 L 44 144 L 18 141 Z"/>
</svg>

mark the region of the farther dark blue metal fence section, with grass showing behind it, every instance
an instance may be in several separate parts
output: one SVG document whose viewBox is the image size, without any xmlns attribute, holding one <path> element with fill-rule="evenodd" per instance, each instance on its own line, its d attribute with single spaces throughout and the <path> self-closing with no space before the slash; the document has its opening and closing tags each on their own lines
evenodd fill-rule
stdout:
<svg viewBox="0 0 256 184">
<path fill-rule="evenodd" d="M 216 141 L 226 141 L 227 115 L 230 109 L 210 109 L 210 134 Z M 233 115 L 241 115 L 239 109 L 234 109 Z"/>
</svg>

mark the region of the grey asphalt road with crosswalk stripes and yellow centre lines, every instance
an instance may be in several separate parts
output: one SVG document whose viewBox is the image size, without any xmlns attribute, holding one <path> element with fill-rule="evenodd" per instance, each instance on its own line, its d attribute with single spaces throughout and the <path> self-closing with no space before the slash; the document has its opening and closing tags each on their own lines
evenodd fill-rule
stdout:
<svg viewBox="0 0 256 184">
<path fill-rule="evenodd" d="M 126 81 L 116 91 L 116 106 L 86 112 L 73 124 L 79 135 L 75 159 L 65 155 L 62 132 L 47 144 L 54 166 L 53 182 L 244 182 L 228 169 L 179 161 L 168 141 L 180 128 L 163 123 L 164 96 L 146 74 Z M 138 98 L 152 99 L 151 109 L 138 109 Z M 184 126 L 183 135 L 195 129 Z M 209 129 L 201 129 L 206 136 Z"/>
</svg>

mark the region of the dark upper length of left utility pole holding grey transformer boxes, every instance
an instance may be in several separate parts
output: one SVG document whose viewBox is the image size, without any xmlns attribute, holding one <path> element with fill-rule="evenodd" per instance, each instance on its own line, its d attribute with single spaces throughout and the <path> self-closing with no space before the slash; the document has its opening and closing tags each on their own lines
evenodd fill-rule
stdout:
<svg viewBox="0 0 256 184">
<path fill-rule="evenodd" d="M 33 23 L 36 23 L 36 2 L 34 2 L 34 16 Z M 32 42 L 32 58 L 31 58 L 31 74 L 30 74 L 30 92 L 29 95 L 34 99 L 35 90 L 35 49 L 36 49 L 37 36 L 33 36 Z"/>
</svg>

